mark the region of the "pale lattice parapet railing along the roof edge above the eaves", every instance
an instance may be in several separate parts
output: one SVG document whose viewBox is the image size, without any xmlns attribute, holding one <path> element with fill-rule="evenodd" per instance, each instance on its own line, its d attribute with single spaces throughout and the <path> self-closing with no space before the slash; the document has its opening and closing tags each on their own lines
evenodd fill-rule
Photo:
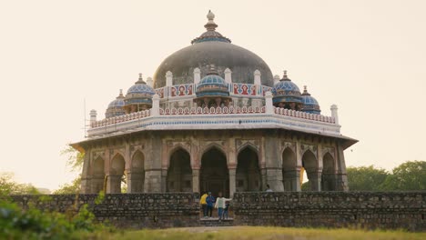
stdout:
<svg viewBox="0 0 426 240">
<path fill-rule="evenodd" d="M 140 111 L 137 113 L 118 115 L 109 117 L 100 121 L 96 121 L 91 124 L 92 128 L 102 127 L 106 125 L 117 125 L 136 119 L 151 116 L 151 109 Z M 218 107 L 173 107 L 173 108 L 159 108 L 159 115 L 249 115 L 249 114 L 265 114 L 266 107 L 253 107 L 253 106 L 218 106 Z M 311 121 L 317 121 L 322 123 L 335 124 L 334 117 L 326 115 L 314 115 L 305 112 L 289 110 L 279 107 L 273 107 L 273 113 L 276 115 L 286 115 L 289 117 L 295 117 L 300 119 L 308 119 Z"/>
</svg>

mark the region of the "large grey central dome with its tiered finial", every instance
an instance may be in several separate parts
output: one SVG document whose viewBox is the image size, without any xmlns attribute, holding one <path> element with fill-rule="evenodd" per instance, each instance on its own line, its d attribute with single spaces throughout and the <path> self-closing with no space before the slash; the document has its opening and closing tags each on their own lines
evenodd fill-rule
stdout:
<svg viewBox="0 0 426 240">
<path fill-rule="evenodd" d="M 214 16 L 208 12 L 207 32 L 194 39 L 189 45 L 169 55 L 158 66 L 154 75 L 154 87 L 166 85 L 167 71 L 173 74 L 173 85 L 194 83 L 194 69 L 207 75 L 210 65 L 215 65 L 218 75 L 224 76 L 225 69 L 232 71 L 232 82 L 254 84 L 254 71 L 260 71 L 262 85 L 273 85 L 269 66 L 258 55 L 233 45 L 230 40 L 215 31 Z"/>
</svg>

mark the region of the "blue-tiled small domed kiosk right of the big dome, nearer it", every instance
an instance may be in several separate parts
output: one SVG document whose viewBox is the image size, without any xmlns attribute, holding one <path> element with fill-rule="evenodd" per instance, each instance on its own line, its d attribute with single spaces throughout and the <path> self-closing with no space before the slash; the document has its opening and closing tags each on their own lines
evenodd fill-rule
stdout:
<svg viewBox="0 0 426 240">
<path fill-rule="evenodd" d="M 295 107 L 289 106 L 290 109 L 299 110 L 297 105 L 301 105 L 302 98 L 298 85 L 295 85 L 287 76 L 287 71 L 284 71 L 284 76 L 279 82 L 272 87 L 272 94 L 274 95 L 272 102 L 274 105 L 290 105 L 295 104 Z M 287 108 L 287 107 L 286 107 Z"/>
</svg>

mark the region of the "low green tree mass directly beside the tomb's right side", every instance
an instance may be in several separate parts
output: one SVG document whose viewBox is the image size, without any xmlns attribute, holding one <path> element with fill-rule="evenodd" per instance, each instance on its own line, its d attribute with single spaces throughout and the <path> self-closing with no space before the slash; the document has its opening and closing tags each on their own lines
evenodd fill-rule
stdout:
<svg viewBox="0 0 426 240">
<path fill-rule="evenodd" d="M 386 170 L 373 165 L 348 167 L 346 171 L 350 191 L 379 191 L 389 175 Z"/>
</svg>

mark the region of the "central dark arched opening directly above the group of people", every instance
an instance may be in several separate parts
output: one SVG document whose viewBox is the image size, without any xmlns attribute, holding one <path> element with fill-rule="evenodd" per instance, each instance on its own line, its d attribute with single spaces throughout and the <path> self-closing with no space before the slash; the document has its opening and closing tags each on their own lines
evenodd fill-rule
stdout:
<svg viewBox="0 0 426 240">
<path fill-rule="evenodd" d="M 229 197 L 229 174 L 227 157 L 216 147 L 208 150 L 201 157 L 199 189 L 211 192 L 215 197 L 219 192 Z"/>
</svg>

